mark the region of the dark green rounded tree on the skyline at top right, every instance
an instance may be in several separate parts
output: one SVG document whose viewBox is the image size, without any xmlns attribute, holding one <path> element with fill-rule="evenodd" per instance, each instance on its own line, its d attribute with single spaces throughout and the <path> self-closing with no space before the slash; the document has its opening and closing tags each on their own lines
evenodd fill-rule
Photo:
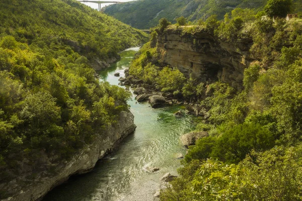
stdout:
<svg viewBox="0 0 302 201">
<path fill-rule="evenodd" d="M 268 0 L 267 5 L 264 7 L 264 11 L 270 17 L 280 16 L 286 17 L 292 11 L 292 0 Z"/>
</svg>

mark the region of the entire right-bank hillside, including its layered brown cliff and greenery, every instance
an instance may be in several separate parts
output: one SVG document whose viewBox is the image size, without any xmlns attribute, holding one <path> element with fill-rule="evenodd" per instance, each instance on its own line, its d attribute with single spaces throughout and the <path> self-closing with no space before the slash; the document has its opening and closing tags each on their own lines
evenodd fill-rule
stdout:
<svg viewBox="0 0 302 201">
<path fill-rule="evenodd" d="M 201 116 L 161 200 L 302 200 L 302 20 L 242 11 L 161 20 L 130 65 L 126 83 Z"/>
</svg>

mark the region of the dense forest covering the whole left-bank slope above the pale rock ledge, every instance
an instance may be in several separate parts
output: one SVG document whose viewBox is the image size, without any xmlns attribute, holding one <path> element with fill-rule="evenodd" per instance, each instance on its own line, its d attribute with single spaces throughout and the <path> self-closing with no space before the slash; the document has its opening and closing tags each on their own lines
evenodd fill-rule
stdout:
<svg viewBox="0 0 302 201">
<path fill-rule="evenodd" d="M 90 61 L 115 57 L 147 36 L 73 0 L 4 0 L 0 22 L 5 182 L 18 174 L 18 161 L 36 159 L 41 151 L 68 158 L 114 124 L 127 110 L 129 94 L 100 83 Z"/>
</svg>

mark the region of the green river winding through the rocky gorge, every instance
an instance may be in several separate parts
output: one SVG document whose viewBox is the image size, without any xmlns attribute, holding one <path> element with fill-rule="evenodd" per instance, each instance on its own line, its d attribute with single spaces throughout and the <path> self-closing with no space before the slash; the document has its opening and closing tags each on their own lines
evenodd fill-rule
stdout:
<svg viewBox="0 0 302 201">
<path fill-rule="evenodd" d="M 114 73 L 124 76 L 134 54 L 139 48 L 120 53 L 121 60 L 99 72 L 100 80 L 118 84 Z M 125 86 L 121 86 L 124 87 Z M 130 90 L 132 92 L 132 90 Z M 67 182 L 50 191 L 44 201 L 148 201 L 160 187 L 160 178 L 166 173 L 177 174 L 180 160 L 185 154 L 179 137 L 193 129 L 194 117 L 174 117 L 180 106 L 153 109 L 148 103 L 136 103 L 135 95 L 128 101 L 134 115 L 135 132 L 126 137 L 119 147 L 100 160 L 93 171 L 71 177 Z M 145 167 L 160 167 L 149 173 Z"/>
</svg>

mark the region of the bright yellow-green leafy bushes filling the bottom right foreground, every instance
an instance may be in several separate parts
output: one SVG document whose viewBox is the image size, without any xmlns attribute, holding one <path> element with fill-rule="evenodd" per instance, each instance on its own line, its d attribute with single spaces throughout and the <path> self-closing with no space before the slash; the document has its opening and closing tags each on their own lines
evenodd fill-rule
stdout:
<svg viewBox="0 0 302 201">
<path fill-rule="evenodd" d="M 300 149 L 253 152 L 238 165 L 192 160 L 161 192 L 161 200 L 300 200 Z"/>
</svg>

